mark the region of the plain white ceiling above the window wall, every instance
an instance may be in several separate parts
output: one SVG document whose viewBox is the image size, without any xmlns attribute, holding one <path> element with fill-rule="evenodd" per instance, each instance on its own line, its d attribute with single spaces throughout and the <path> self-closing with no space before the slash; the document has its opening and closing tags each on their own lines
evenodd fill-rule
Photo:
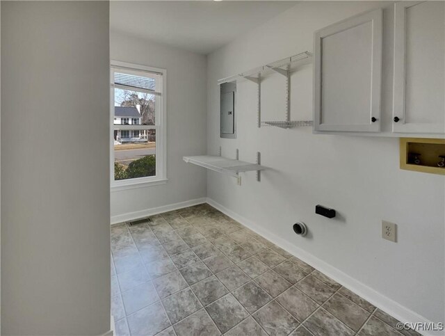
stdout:
<svg viewBox="0 0 445 336">
<path fill-rule="evenodd" d="M 209 54 L 297 1 L 111 1 L 111 31 Z"/>
</svg>

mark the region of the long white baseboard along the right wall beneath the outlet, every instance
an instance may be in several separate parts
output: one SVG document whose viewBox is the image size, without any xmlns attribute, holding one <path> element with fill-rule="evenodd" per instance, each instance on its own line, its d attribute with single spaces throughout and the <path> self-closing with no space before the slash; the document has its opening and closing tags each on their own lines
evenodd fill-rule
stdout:
<svg viewBox="0 0 445 336">
<path fill-rule="evenodd" d="M 432 321 L 429 321 L 425 317 L 422 317 L 421 315 L 413 312 L 407 307 L 404 307 L 396 301 L 391 300 L 391 298 L 387 298 L 387 296 L 380 294 L 378 291 L 375 291 L 371 287 L 364 285 L 362 282 L 355 280 L 354 278 L 350 277 L 350 275 L 343 273 L 339 269 L 336 269 L 334 266 L 323 262 L 323 260 L 319 259 L 318 257 L 315 257 L 314 255 L 307 253 L 305 250 L 298 248 L 292 243 L 289 243 L 289 241 L 278 237 L 273 232 L 264 229 L 264 227 L 260 227 L 247 218 L 244 218 L 243 216 L 236 214 L 234 211 L 227 209 L 211 198 L 207 198 L 207 203 L 209 203 L 209 205 L 215 207 L 219 211 L 223 212 L 227 216 L 233 218 L 235 221 L 243 224 L 245 227 L 248 227 L 250 230 L 257 232 L 257 234 L 260 234 L 264 238 L 275 243 L 277 246 L 280 246 L 292 255 L 295 255 L 296 257 L 302 259 L 302 261 L 307 262 L 307 264 L 313 266 L 315 269 L 318 269 L 318 271 L 325 273 L 330 278 L 339 282 L 340 285 L 343 285 L 344 287 L 353 291 L 355 294 L 362 296 L 362 298 L 375 305 L 375 307 L 378 307 L 384 312 L 387 312 L 387 314 L 390 314 L 392 317 L 395 317 L 399 321 L 402 321 L 404 323 L 432 323 Z M 431 336 L 444 335 L 443 331 L 439 333 L 428 332 L 428 334 L 425 331 L 419 331 L 419 333 Z"/>
</svg>

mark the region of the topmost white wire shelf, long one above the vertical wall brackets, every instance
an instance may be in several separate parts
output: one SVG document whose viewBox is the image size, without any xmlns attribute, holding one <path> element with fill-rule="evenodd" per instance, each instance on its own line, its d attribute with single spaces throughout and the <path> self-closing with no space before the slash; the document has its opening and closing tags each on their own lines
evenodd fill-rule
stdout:
<svg viewBox="0 0 445 336">
<path fill-rule="evenodd" d="M 233 76 L 218 79 L 218 84 L 238 81 L 239 79 L 257 79 L 259 76 L 266 76 L 267 74 L 275 72 L 275 70 L 277 69 L 292 71 L 300 67 L 301 65 L 304 65 L 305 63 L 310 63 L 311 59 L 312 53 L 309 51 L 304 51 L 300 54 L 296 54 L 290 57 L 283 58 L 279 61 L 262 65 L 261 67 L 255 67 L 254 69 L 248 70 L 241 74 L 234 74 Z"/>
</svg>

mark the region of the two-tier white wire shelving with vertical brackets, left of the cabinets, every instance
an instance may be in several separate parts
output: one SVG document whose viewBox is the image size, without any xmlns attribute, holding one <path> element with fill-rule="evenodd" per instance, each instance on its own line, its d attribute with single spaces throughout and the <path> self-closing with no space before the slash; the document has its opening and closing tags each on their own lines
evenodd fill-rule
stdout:
<svg viewBox="0 0 445 336">
<path fill-rule="evenodd" d="M 236 74 L 234 76 L 226 77 L 218 80 L 218 84 L 247 79 L 256 83 L 258 86 L 258 107 L 257 107 L 257 126 L 276 126 L 284 129 L 300 126 L 312 126 L 312 120 L 296 120 L 291 121 L 291 73 L 298 70 L 299 67 L 306 63 L 312 62 L 312 53 L 304 51 L 290 57 L 283 58 L 280 61 L 268 63 L 261 67 L 256 67 L 252 70 Z M 285 83 L 285 115 L 282 121 L 267 121 L 261 122 L 261 78 L 271 73 L 282 74 L 286 78 Z"/>
</svg>

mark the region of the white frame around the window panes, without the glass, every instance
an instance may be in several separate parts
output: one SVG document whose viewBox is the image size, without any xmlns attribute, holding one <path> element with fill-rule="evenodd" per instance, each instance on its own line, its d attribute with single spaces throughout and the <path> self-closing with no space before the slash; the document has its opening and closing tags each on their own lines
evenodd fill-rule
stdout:
<svg viewBox="0 0 445 336">
<path fill-rule="evenodd" d="M 141 74 L 141 72 L 147 72 L 147 74 L 157 74 L 160 76 L 159 86 L 161 94 L 159 99 L 159 106 L 156 106 L 156 112 L 154 116 L 155 125 L 150 126 L 149 129 L 156 129 L 156 175 L 149 177 L 138 177 L 134 179 L 121 179 L 115 181 L 114 179 L 114 72 L 124 71 L 134 74 Z M 159 184 L 165 184 L 167 182 L 167 70 L 159 67 L 148 67 L 146 65 L 138 65 L 133 63 L 111 61 L 110 67 L 110 179 L 111 179 L 111 192 L 122 191 L 127 189 L 142 188 L 145 186 L 155 186 Z M 158 86 L 158 83 L 156 83 Z M 156 102 L 157 103 L 157 102 Z M 120 129 L 133 130 L 140 129 L 141 125 L 124 125 L 120 126 Z"/>
</svg>

